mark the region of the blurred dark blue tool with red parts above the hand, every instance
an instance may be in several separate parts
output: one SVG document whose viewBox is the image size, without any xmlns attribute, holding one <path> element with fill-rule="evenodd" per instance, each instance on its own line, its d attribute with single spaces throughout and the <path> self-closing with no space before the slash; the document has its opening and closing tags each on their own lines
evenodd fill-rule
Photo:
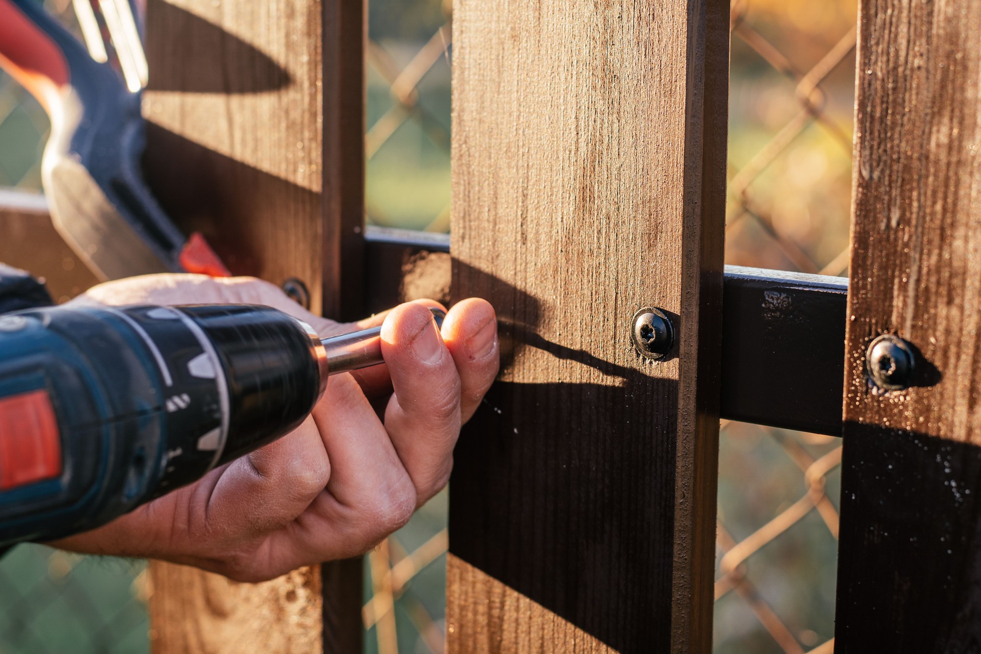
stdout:
<svg viewBox="0 0 981 654">
<path fill-rule="evenodd" d="M 117 21 L 129 12 L 121 1 Z M 128 86 L 108 63 L 92 59 L 34 0 L 0 0 L 0 67 L 51 120 L 41 163 L 51 217 L 97 277 L 229 275 L 200 234 L 184 238 L 140 176 L 138 83 Z"/>
</svg>

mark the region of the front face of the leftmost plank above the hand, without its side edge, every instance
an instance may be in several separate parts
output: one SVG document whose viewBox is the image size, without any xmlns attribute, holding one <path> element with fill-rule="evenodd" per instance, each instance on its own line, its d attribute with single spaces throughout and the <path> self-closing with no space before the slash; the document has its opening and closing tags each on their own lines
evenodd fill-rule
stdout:
<svg viewBox="0 0 981 654">
<path fill-rule="evenodd" d="M 322 309 L 320 1 L 151 0 L 146 176 L 238 275 L 300 278 Z"/>
</svg>

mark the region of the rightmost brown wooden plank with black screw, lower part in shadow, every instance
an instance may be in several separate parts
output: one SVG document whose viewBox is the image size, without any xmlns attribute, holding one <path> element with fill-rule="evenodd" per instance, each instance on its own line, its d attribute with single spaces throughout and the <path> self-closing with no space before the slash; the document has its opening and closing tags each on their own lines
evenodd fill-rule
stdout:
<svg viewBox="0 0 981 654">
<path fill-rule="evenodd" d="M 981 647 L 981 4 L 862 0 L 836 652 Z M 916 353 L 877 392 L 873 338 Z"/>
</svg>

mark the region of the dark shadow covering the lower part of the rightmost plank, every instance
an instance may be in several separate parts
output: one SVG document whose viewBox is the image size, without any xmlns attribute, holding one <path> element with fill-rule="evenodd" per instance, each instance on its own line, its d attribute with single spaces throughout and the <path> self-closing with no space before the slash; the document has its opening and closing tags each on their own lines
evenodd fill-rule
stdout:
<svg viewBox="0 0 981 654">
<path fill-rule="evenodd" d="M 981 651 L 981 447 L 845 432 L 835 651 Z"/>
</svg>

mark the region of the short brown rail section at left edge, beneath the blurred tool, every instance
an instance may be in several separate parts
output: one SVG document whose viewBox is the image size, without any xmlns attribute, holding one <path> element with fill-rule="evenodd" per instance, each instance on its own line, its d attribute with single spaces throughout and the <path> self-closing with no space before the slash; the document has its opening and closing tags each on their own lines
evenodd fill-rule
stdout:
<svg viewBox="0 0 981 654">
<path fill-rule="evenodd" d="M 51 223 L 39 193 L 0 191 L 0 262 L 43 278 L 55 302 L 98 283 Z"/>
</svg>

